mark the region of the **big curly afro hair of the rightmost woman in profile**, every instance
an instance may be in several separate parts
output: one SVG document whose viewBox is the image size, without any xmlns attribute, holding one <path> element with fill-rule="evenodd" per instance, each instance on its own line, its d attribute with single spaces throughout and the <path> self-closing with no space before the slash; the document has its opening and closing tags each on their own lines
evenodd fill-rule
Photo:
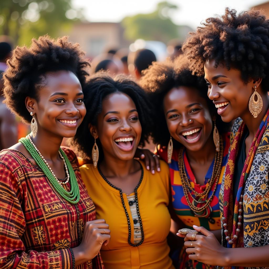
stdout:
<svg viewBox="0 0 269 269">
<path fill-rule="evenodd" d="M 262 78 L 264 92 L 269 86 L 269 20 L 260 10 L 238 13 L 225 9 L 223 16 L 210 17 L 182 46 L 193 73 L 204 75 L 204 63 L 213 59 L 226 68 L 241 72 L 246 83 Z"/>
</svg>

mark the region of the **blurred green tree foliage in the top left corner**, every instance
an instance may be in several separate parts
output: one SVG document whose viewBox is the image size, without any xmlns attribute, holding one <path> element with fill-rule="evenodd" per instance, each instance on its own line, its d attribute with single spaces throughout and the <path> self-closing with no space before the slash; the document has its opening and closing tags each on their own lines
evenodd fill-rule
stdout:
<svg viewBox="0 0 269 269">
<path fill-rule="evenodd" d="M 28 45 L 33 37 L 57 37 L 82 11 L 71 0 L 1 0 L 0 34 L 12 37 L 15 45 Z"/>
</svg>

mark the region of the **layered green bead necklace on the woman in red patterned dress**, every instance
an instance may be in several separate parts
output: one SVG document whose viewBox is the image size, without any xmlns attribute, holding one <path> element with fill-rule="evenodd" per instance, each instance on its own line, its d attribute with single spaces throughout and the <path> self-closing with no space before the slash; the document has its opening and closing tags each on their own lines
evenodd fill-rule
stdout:
<svg viewBox="0 0 269 269">
<path fill-rule="evenodd" d="M 45 160 L 43 155 L 40 153 L 40 151 L 34 144 L 33 140 L 30 137 L 30 134 L 28 134 L 26 137 L 21 138 L 19 142 L 21 142 L 27 149 L 27 151 L 29 151 L 33 159 L 36 161 L 37 165 L 42 169 L 44 174 L 47 176 L 49 182 L 55 188 L 58 194 L 69 203 L 76 204 L 80 199 L 79 186 L 73 167 L 63 150 L 61 148 L 59 149 L 59 156 L 64 163 L 66 179 L 60 180 L 55 176 L 48 162 Z M 63 185 L 65 185 L 69 181 L 70 192 L 63 188 Z"/>
</svg>

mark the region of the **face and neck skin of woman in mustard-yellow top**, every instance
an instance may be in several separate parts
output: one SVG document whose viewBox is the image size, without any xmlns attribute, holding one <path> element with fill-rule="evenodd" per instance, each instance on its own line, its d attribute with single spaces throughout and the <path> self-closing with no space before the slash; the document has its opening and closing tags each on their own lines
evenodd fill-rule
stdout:
<svg viewBox="0 0 269 269">
<path fill-rule="evenodd" d="M 108 95 L 102 102 L 97 122 L 97 126 L 90 125 L 90 132 L 102 144 L 102 173 L 123 193 L 133 193 L 141 177 L 140 164 L 133 157 L 142 132 L 133 100 L 124 93 Z M 123 150 L 115 140 L 126 137 L 133 138 L 132 147 Z"/>
</svg>

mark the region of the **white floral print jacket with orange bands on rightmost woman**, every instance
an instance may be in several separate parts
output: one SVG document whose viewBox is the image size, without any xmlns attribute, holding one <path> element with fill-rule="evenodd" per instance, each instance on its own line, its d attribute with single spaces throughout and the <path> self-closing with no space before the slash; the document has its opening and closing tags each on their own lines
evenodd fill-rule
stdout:
<svg viewBox="0 0 269 269">
<path fill-rule="evenodd" d="M 231 142 L 235 137 L 242 119 L 236 119 L 232 131 Z M 239 143 L 239 142 L 238 142 Z M 230 150 L 229 150 L 230 152 Z M 269 124 L 257 148 L 249 175 L 246 179 L 243 193 L 243 245 L 244 247 L 258 247 L 269 245 Z M 221 217 L 223 216 L 225 174 L 220 190 Z M 227 246 L 222 228 L 222 245 Z M 253 267 L 246 267 L 253 268 Z M 258 267 L 257 267 L 258 268 Z M 260 267 L 260 269 L 269 267 Z"/>
</svg>

